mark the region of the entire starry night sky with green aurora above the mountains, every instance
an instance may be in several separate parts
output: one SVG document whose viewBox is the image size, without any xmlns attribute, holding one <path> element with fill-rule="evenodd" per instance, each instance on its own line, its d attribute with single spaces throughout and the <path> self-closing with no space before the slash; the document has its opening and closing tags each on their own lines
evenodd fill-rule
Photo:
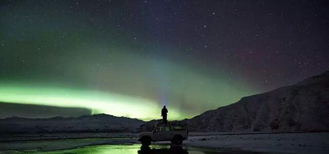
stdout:
<svg viewBox="0 0 329 154">
<path fill-rule="evenodd" d="M 179 120 L 329 69 L 327 1 L 1 1 L 0 16 L 8 116 Z"/>
</svg>

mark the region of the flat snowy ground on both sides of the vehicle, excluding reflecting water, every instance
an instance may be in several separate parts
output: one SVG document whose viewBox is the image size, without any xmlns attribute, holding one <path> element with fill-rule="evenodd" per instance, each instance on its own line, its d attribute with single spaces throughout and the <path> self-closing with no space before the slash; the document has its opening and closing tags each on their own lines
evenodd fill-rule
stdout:
<svg viewBox="0 0 329 154">
<path fill-rule="evenodd" d="M 202 134 L 203 136 L 190 136 L 187 141 L 184 141 L 183 145 L 273 153 L 329 153 L 329 132 L 233 135 L 213 134 L 214 133 L 204 133 Z M 99 134 L 99 136 L 103 137 L 104 135 L 105 134 Z M 197 133 L 194 135 L 197 135 Z M 99 137 L 96 136 L 96 134 L 93 134 L 93 136 Z M 113 137 L 129 138 L 2 141 L 0 142 L 0 150 L 2 150 L 0 153 L 10 153 L 8 150 L 50 151 L 73 149 L 90 145 L 138 143 L 135 136 L 136 134 L 116 134 L 116 136 Z M 108 135 L 108 137 L 110 136 Z M 153 144 L 170 143 L 157 142 Z"/>
</svg>

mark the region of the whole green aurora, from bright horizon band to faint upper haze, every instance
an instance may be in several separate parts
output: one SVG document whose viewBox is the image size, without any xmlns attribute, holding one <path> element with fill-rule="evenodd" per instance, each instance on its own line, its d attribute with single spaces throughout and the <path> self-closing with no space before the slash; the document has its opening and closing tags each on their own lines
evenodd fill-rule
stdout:
<svg viewBox="0 0 329 154">
<path fill-rule="evenodd" d="M 29 7 L 17 2 L 0 12 L 0 102 L 142 120 L 160 119 L 167 105 L 168 119 L 180 120 L 259 92 L 234 78 L 230 64 L 195 63 L 181 54 L 190 47 L 159 43 L 139 26 L 67 13 L 69 5 Z"/>
</svg>

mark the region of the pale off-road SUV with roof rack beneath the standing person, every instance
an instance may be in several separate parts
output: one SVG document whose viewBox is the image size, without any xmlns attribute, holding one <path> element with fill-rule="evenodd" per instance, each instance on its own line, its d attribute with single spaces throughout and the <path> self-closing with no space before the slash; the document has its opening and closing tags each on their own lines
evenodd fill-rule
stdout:
<svg viewBox="0 0 329 154">
<path fill-rule="evenodd" d="M 158 123 L 153 126 L 152 131 L 141 132 L 138 141 L 144 146 L 149 146 L 151 141 L 170 141 L 181 145 L 188 137 L 187 124 L 185 122 Z"/>
</svg>

